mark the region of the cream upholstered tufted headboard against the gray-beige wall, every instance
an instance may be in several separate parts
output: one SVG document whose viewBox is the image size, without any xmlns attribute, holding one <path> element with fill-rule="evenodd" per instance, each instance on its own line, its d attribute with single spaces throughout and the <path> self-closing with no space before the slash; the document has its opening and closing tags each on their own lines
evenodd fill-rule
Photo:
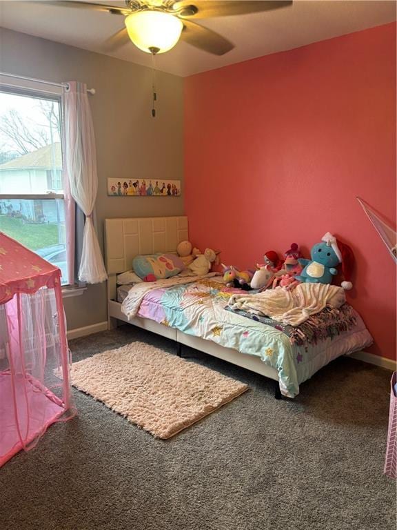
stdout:
<svg viewBox="0 0 397 530">
<path fill-rule="evenodd" d="M 136 255 L 175 252 L 189 239 L 187 217 L 105 219 L 105 264 L 109 275 L 129 271 Z"/>
</svg>

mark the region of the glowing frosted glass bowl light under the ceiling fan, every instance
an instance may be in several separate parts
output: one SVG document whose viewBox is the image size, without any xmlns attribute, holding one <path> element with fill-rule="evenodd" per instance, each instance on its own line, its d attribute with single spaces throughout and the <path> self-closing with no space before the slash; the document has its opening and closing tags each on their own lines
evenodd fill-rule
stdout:
<svg viewBox="0 0 397 530">
<path fill-rule="evenodd" d="M 143 52 L 164 53 L 181 37 L 183 23 L 173 14 L 156 10 L 137 11 L 125 17 L 128 36 Z"/>
</svg>

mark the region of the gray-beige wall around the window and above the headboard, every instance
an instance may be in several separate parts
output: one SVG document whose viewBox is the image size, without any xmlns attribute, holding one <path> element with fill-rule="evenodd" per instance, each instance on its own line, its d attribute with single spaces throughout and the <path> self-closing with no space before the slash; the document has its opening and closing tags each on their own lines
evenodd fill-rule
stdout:
<svg viewBox="0 0 397 530">
<path fill-rule="evenodd" d="M 83 81 L 96 137 L 99 241 L 105 217 L 183 215 L 183 197 L 107 197 L 107 177 L 183 179 L 183 79 L 156 73 L 157 116 L 151 116 L 151 70 L 80 48 L 0 28 L 0 70 L 49 81 Z M 183 193 L 183 184 L 182 184 Z M 107 319 L 105 284 L 64 301 L 68 328 Z"/>
</svg>

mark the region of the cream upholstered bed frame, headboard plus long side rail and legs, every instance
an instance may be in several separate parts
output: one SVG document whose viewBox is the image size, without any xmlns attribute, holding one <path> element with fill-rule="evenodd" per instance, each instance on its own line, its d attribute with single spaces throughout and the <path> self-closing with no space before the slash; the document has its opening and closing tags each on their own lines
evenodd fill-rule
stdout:
<svg viewBox="0 0 397 530">
<path fill-rule="evenodd" d="M 189 239 L 187 217 L 131 217 L 124 219 L 105 219 L 105 264 L 108 271 L 108 328 L 115 328 L 119 321 L 134 324 L 139 328 L 152 331 L 172 339 L 177 344 L 177 353 L 181 355 L 182 346 L 190 346 L 219 359 L 223 359 L 247 370 L 253 371 L 276 381 L 275 397 L 281 399 L 278 386 L 278 373 L 267 366 L 259 357 L 239 353 L 215 342 L 187 335 L 175 328 L 158 324 L 154 320 L 134 317 L 132 320 L 121 311 L 117 302 L 116 275 L 132 269 L 132 259 L 136 255 L 158 252 L 176 253 L 176 246 Z"/>
</svg>

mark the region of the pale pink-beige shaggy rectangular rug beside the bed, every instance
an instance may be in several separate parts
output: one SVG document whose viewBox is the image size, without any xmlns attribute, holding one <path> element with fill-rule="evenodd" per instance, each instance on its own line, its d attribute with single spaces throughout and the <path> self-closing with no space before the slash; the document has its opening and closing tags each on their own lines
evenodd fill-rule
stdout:
<svg viewBox="0 0 397 530">
<path fill-rule="evenodd" d="M 163 439 L 248 389 L 246 384 L 144 342 L 73 363 L 72 384 Z"/>
</svg>

